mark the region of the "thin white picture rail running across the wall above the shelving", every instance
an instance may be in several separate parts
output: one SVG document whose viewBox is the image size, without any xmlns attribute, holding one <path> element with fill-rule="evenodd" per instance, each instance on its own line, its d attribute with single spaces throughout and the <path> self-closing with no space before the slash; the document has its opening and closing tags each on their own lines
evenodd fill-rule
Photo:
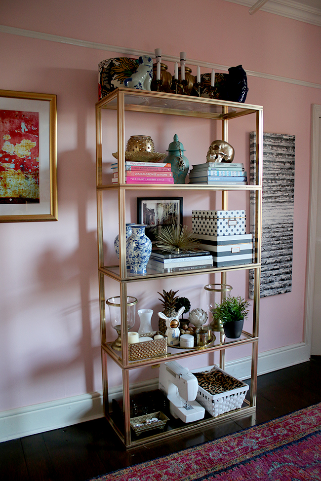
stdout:
<svg viewBox="0 0 321 481">
<path fill-rule="evenodd" d="M 230 0 L 227 0 L 230 1 Z M 7 27 L 6 25 L 0 25 L 0 32 L 11 35 L 19 35 L 22 37 L 37 38 L 40 40 L 48 40 L 58 43 L 67 43 L 69 45 L 76 45 L 79 47 L 93 48 L 96 50 L 105 50 L 108 52 L 121 53 L 126 55 L 133 55 L 134 57 L 139 57 L 140 55 L 150 55 L 154 57 L 155 52 L 146 52 L 145 50 L 136 50 L 133 48 L 118 47 L 115 45 L 107 45 L 105 43 L 91 42 L 88 40 L 80 40 L 77 38 L 61 37 L 60 35 L 44 34 L 42 32 L 34 32 L 32 30 L 24 30 L 16 27 Z M 179 57 L 174 57 L 171 55 L 162 55 L 162 60 L 167 62 L 179 62 Z M 208 68 L 209 70 L 214 69 L 215 71 L 227 72 L 229 67 L 226 65 L 213 64 L 210 62 L 203 62 L 202 60 L 187 59 L 189 65 L 199 65 L 200 67 Z M 279 82 L 292 83 L 295 85 L 301 85 L 302 87 L 318 88 L 321 89 L 321 84 L 306 82 L 304 80 L 298 80 L 295 78 L 282 77 L 280 75 L 266 74 L 264 72 L 255 72 L 252 70 L 245 70 L 247 75 L 253 77 L 266 78 L 268 80 L 276 80 Z"/>
</svg>

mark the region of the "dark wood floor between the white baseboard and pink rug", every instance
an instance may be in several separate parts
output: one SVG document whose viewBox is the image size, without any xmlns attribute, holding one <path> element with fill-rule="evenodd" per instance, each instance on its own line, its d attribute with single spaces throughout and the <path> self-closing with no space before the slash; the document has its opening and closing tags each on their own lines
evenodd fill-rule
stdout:
<svg viewBox="0 0 321 481">
<path fill-rule="evenodd" d="M 321 360 L 258 378 L 254 423 L 321 402 Z M 122 467 L 239 431 L 250 418 L 126 451 L 103 418 L 0 443 L 0 475 L 6 481 L 84 481 Z"/>
</svg>

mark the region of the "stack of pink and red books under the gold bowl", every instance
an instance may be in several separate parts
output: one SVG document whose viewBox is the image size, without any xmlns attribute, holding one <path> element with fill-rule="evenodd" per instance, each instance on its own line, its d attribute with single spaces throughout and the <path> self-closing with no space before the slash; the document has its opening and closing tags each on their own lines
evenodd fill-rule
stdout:
<svg viewBox="0 0 321 481">
<path fill-rule="evenodd" d="M 112 164 L 114 178 L 118 183 L 118 163 Z M 171 164 L 161 162 L 125 162 L 126 184 L 174 184 Z"/>
</svg>

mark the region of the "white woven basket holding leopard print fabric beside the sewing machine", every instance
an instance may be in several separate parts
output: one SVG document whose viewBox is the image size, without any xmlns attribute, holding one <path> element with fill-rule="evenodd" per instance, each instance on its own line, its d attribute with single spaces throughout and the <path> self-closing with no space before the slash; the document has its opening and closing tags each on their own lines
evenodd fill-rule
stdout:
<svg viewBox="0 0 321 481">
<path fill-rule="evenodd" d="M 249 389 L 248 384 L 235 379 L 216 366 L 210 371 L 193 374 L 199 382 L 196 401 L 213 417 L 242 407 Z"/>
</svg>

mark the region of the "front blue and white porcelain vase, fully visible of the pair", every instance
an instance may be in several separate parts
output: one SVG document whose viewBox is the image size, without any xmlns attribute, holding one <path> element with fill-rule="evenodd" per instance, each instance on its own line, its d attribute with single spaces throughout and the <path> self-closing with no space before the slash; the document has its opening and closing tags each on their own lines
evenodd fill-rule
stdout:
<svg viewBox="0 0 321 481">
<path fill-rule="evenodd" d="M 144 224 L 132 224 L 131 236 L 126 241 L 131 274 L 146 274 L 146 266 L 152 252 L 152 241 L 145 234 L 145 227 Z"/>
</svg>

